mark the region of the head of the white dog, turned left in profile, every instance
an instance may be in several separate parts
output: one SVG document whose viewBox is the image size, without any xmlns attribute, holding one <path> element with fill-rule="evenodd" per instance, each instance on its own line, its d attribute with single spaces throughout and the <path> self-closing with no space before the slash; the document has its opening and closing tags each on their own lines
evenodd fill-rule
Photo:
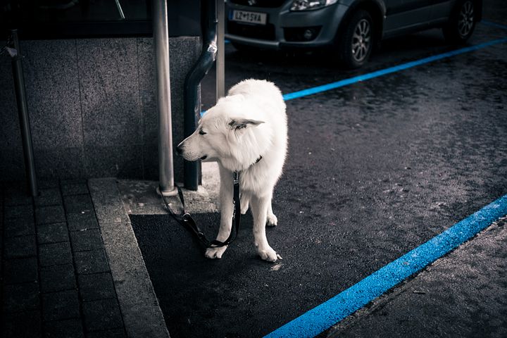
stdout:
<svg viewBox="0 0 507 338">
<path fill-rule="evenodd" d="M 230 170 L 244 170 L 265 149 L 256 130 L 264 122 L 234 115 L 227 104 L 217 104 L 199 120 L 195 132 L 177 146 L 187 161 L 220 161 Z"/>
</svg>

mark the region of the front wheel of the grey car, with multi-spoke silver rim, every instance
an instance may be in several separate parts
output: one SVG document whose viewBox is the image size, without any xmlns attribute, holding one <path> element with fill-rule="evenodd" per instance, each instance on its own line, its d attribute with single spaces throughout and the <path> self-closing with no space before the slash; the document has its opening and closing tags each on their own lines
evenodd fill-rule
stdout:
<svg viewBox="0 0 507 338">
<path fill-rule="evenodd" d="M 339 37 L 338 51 L 346 68 L 360 68 L 370 58 L 374 46 L 373 20 L 367 11 L 352 15 Z"/>
</svg>

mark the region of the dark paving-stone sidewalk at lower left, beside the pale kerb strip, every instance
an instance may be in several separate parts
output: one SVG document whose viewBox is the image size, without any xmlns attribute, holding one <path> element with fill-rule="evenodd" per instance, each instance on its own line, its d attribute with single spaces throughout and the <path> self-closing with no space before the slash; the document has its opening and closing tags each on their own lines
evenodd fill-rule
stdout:
<svg viewBox="0 0 507 338">
<path fill-rule="evenodd" d="M 0 195 L 0 337 L 127 337 L 87 182 Z"/>
</svg>

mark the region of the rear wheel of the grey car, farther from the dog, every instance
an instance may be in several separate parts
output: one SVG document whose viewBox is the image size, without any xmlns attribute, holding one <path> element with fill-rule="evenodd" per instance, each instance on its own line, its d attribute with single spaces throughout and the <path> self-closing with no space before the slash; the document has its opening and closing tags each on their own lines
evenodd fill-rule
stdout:
<svg viewBox="0 0 507 338">
<path fill-rule="evenodd" d="M 447 42 L 464 44 L 475 29 L 475 3 L 472 0 L 459 1 L 454 8 L 443 32 Z"/>
</svg>

